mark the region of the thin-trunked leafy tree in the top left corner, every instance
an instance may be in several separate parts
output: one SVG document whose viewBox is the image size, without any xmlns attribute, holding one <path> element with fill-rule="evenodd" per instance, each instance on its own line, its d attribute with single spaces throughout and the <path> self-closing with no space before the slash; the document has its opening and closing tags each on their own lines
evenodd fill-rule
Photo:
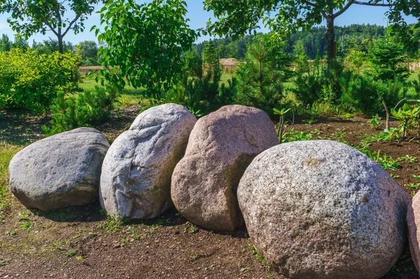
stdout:
<svg viewBox="0 0 420 279">
<path fill-rule="evenodd" d="M 83 22 L 94 10 L 99 0 L 0 0 L 0 13 L 10 13 L 7 22 L 20 36 L 29 36 L 51 31 L 63 52 L 63 37 L 72 30 L 83 31 Z M 71 17 L 66 17 L 71 10 Z"/>
</svg>

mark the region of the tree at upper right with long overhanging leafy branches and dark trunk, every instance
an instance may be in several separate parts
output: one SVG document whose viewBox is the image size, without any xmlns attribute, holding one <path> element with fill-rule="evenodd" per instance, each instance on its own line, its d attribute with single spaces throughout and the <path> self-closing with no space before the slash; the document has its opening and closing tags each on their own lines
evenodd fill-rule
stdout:
<svg viewBox="0 0 420 279">
<path fill-rule="evenodd" d="M 213 10 L 216 22 L 209 21 L 207 30 L 211 34 L 237 38 L 247 31 L 259 28 L 260 20 L 277 34 L 293 34 L 298 29 L 309 29 L 315 24 L 327 22 L 325 37 L 328 42 L 328 59 L 335 58 L 336 45 L 334 20 L 350 6 L 386 6 L 387 15 L 394 30 L 409 33 L 402 15 L 420 18 L 418 0 L 205 0 L 204 8 Z"/>
</svg>

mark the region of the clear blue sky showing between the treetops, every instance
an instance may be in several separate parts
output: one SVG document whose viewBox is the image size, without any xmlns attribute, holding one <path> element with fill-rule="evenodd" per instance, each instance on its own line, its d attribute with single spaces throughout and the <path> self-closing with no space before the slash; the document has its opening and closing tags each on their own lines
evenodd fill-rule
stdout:
<svg viewBox="0 0 420 279">
<path fill-rule="evenodd" d="M 148 0 L 146 2 L 150 2 L 151 0 Z M 202 0 L 186 0 L 188 3 L 188 18 L 190 18 L 190 27 L 193 29 L 198 29 L 200 27 L 205 27 L 207 21 L 210 17 L 212 17 L 213 13 L 209 13 L 203 9 L 203 3 Z M 96 10 L 99 10 L 101 7 L 97 6 Z M 370 6 L 360 6 L 360 5 L 353 5 L 349 8 L 349 10 L 346 10 L 345 13 L 337 17 L 335 20 L 335 24 L 337 26 L 344 26 L 349 25 L 353 23 L 358 24 L 378 24 L 378 25 L 386 25 L 386 13 L 387 8 L 383 7 L 370 7 Z M 6 22 L 8 15 L 3 14 L 0 15 L 0 34 L 7 34 L 9 38 L 13 38 L 14 32 L 12 29 L 8 26 L 8 23 Z M 406 17 L 406 21 L 408 23 L 415 23 L 417 22 L 414 17 Z M 90 32 L 90 27 L 93 25 L 99 25 L 99 15 L 97 13 L 93 13 L 90 18 L 85 22 L 85 31 L 83 33 L 79 33 L 77 35 L 74 35 L 73 33 L 66 34 L 64 37 L 64 41 L 70 41 L 73 44 L 77 44 L 80 41 L 97 41 L 94 33 Z M 268 31 L 267 29 L 262 29 L 262 31 Z M 36 34 L 34 36 L 31 36 L 29 38 L 29 43 L 32 43 L 32 40 L 35 39 L 35 41 L 40 42 L 43 40 L 48 40 L 48 38 L 56 39 L 55 35 L 52 34 L 52 32 L 49 32 L 49 34 L 45 34 L 45 36 L 41 34 Z M 208 36 L 201 37 L 198 39 L 197 42 L 204 41 L 209 39 Z"/>
</svg>

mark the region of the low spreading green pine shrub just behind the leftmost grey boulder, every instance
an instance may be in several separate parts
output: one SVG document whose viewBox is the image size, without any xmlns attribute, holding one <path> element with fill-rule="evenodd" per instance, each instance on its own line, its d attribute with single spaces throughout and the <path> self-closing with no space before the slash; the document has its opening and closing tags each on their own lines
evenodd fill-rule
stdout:
<svg viewBox="0 0 420 279">
<path fill-rule="evenodd" d="M 111 116 L 114 102 L 119 96 L 119 91 L 111 86 L 95 86 L 95 91 L 86 91 L 79 94 L 64 94 L 58 92 L 52 106 L 51 127 L 42 127 L 45 136 L 69 131 L 78 127 L 104 121 Z"/>
</svg>

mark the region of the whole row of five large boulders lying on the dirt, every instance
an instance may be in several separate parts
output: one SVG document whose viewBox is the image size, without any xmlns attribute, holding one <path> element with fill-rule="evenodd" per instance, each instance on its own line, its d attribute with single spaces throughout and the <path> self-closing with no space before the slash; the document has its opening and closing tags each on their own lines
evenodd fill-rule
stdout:
<svg viewBox="0 0 420 279">
<path fill-rule="evenodd" d="M 167 103 L 141 113 L 111 146 L 96 129 L 74 129 L 27 146 L 9 172 L 28 208 L 99 198 L 121 220 L 175 206 L 211 230 L 245 222 L 256 250 L 288 278 L 380 278 L 407 232 L 420 266 L 419 195 L 410 201 L 377 162 L 343 143 L 279 145 L 257 108 L 225 106 L 197 120 Z"/>
</svg>

